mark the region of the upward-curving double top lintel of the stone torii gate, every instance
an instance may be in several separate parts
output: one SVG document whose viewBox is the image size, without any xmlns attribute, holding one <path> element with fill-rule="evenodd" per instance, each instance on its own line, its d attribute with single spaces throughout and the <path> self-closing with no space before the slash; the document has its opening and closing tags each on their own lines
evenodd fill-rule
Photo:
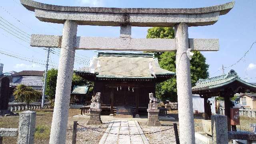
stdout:
<svg viewBox="0 0 256 144">
<path fill-rule="evenodd" d="M 64 24 L 73 20 L 79 25 L 97 26 L 167 26 L 184 22 L 188 26 L 212 25 L 220 15 L 227 14 L 234 2 L 204 8 L 102 8 L 79 6 L 56 6 L 20 0 L 36 18 L 43 22 Z"/>
</svg>

